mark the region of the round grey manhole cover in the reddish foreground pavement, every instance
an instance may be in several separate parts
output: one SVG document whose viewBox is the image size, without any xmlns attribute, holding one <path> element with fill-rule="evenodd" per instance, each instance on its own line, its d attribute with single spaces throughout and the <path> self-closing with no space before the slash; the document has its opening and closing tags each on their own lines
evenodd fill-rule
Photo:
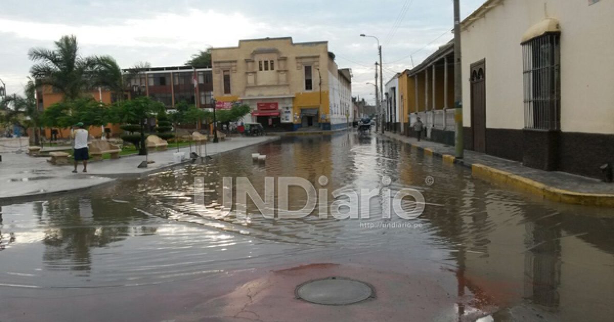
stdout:
<svg viewBox="0 0 614 322">
<path fill-rule="evenodd" d="M 322 305 L 348 305 L 375 297 L 373 286 L 344 277 L 312 280 L 297 286 L 298 299 Z"/>
</svg>

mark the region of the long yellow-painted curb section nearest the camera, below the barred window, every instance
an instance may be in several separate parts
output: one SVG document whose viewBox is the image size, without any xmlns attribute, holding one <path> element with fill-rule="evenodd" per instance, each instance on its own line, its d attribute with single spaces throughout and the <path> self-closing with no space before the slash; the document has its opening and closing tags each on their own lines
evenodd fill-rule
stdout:
<svg viewBox="0 0 614 322">
<path fill-rule="evenodd" d="M 476 178 L 511 186 L 516 190 L 534 194 L 550 201 L 562 202 L 564 204 L 614 207 L 614 194 L 580 193 L 578 191 L 562 190 L 519 175 L 484 166 L 483 164 L 473 164 L 471 171 L 472 175 Z"/>
</svg>

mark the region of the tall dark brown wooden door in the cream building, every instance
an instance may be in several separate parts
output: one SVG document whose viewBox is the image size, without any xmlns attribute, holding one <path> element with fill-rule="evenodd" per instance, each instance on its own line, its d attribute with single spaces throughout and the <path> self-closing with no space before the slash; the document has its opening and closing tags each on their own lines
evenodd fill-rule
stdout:
<svg viewBox="0 0 614 322">
<path fill-rule="evenodd" d="M 486 152 L 486 61 L 471 64 L 470 71 L 473 150 Z"/>
</svg>

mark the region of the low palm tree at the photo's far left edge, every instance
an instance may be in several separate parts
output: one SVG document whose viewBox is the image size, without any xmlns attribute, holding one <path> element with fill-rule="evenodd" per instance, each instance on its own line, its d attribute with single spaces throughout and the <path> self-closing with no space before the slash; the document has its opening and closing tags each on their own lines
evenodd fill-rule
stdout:
<svg viewBox="0 0 614 322">
<path fill-rule="evenodd" d="M 15 94 L 14 96 L 6 96 L 0 101 L 0 110 L 4 111 L 0 121 L 17 125 L 25 130 L 32 128 L 34 132 L 34 145 L 38 145 L 39 134 L 36 129 L 41 124 L 41 114 L 36 105 L 35 91 L 36 86 L 34 86 L 34 82 L 28 77 L 28 83 L 23 89 L 25 96 Z"/>
</svg>

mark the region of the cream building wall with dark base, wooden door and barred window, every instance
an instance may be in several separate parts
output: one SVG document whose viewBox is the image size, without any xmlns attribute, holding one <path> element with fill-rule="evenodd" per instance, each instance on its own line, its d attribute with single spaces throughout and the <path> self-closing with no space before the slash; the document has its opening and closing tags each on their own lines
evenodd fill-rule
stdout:
<svg viewBox="0 0 614 322">
<path fill-rule="evenodd" d="M 465 147 L 600 177 L 614 161 L 614 2 L 489 0 L 462 22 Z"/>
</svg>

